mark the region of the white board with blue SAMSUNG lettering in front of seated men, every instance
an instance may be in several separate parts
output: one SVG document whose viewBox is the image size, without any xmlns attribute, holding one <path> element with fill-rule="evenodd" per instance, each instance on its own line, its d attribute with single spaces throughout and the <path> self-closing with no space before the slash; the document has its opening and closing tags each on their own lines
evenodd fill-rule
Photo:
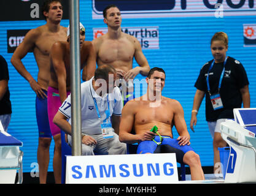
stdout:
<svg viewBox="0 0 256 196">
<path fill-rule="evenodd" d="M 67 184 L 178 183 L 175 153 L 68 156 Z"/>
</svg>

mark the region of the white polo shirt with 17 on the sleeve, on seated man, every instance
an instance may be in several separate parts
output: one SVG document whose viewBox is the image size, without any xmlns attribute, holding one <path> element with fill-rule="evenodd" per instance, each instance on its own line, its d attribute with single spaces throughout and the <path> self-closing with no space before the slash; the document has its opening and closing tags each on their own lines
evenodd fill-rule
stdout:
<svg viewBox="0 0 256 196">
<path fill-rule="evenodd" d="M 85 81 L 81 84 L 81 124 L 82 132 L 84 134 L 101 134 L 101 123 L 107 118 L 107 94 L 103 97 L 98 96 L 92 85 L 93 78 L 88 81 Z M 93 100 L 95 97 L 99 115 L 101 118 L 98 118 L 98 113 L 96 111 L 95 102 Z M 122 95 L 118 87 L 114 88 L 112 93 L 108 94 L 109 99 L 109 113 L 110 116 L 121 116 L 122 115 Z M 59 108 L 59 111 L 63 113 L 64 116 L 69 118 L 69 123 L 71 124 L 71 94 Z"/>
</svg>

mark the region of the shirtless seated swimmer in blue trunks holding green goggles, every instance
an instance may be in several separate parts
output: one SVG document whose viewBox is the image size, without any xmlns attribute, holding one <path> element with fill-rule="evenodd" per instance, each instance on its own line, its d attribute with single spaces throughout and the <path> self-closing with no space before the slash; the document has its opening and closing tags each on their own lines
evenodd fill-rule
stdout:
<svg viewBox="0 0 256 196">
<path fill-rule="evenodd" d="M 119 140 L 138 142 L 138 154 L 176 153 L 177 162 L 189 165 L 192 180 L 203 180 L 200 157 L 190 147 L 183 108 L 177 100 L 161 96 L 165 71 L 158 67 L 150 69 L 146 82 L 147 93 L 123 107 Z M 173 138 L 173 126 L 179 134 L 177 139 Z M 135 134 L 131 134 L 133 129 Z"/>
</svg>

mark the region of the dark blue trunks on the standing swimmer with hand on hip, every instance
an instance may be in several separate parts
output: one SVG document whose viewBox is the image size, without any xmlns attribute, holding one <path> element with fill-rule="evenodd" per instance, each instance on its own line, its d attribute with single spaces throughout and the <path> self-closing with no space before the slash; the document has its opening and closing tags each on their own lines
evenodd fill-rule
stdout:
<svg viewBox="0 0 256 196">
<path fill-rule="evenodd" d="M 44 93 L 47 94 L 47 91 L 44 91 Z M 36 96 L 36 120 L 39 137 L 52 138 L 48 120 L 47 98 L 42 99 Z"/>
</svg>

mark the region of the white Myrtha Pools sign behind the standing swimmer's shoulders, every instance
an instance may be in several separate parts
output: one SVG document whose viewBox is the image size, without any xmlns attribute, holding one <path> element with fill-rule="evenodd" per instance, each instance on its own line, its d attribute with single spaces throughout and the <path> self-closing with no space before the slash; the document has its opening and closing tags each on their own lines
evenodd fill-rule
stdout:
<svg viewBox="0 0 256 196">
<path fill-rule="evenodd" d="M 123 27 L 122 31 L 134 36 L 141 43 L 142 49 L 159 49 L 158 26 Z M 93 28 L 93 39 L 107 33 L 107 28 Z"/>
</svg>

